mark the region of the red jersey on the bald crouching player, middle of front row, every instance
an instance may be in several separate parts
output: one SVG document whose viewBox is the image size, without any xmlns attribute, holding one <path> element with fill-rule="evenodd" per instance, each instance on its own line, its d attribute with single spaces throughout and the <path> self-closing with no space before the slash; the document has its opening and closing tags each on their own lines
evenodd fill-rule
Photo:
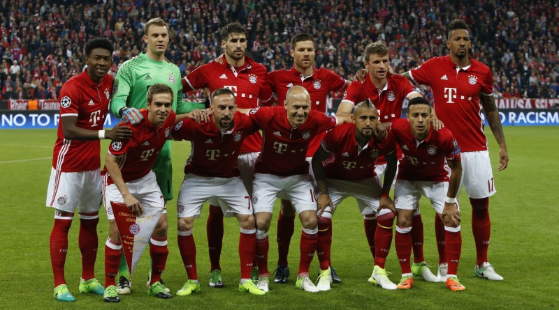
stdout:
<svg viewBox="0 0 559 310">
<path fill-rule="evenodd" d="M 289 125 L 284 106 L 252 109 L 249 116 L 264 133 L 262 151 L 256 159 L 254 172 L 275 176 L 309 173 L 305 157 L 310 141 L 336 125 L 334 116 L 313 109 L 309 111 L 305 123 L 297 128 Z"/>
</svg>

